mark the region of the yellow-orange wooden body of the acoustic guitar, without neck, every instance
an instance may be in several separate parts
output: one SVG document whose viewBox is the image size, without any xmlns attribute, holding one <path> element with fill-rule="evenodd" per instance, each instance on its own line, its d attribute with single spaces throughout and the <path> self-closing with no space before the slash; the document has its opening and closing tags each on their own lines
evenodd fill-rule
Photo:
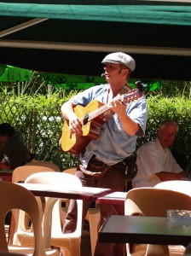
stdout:
<svg viewBox="0 0 191 256">
<path fill-rule="evenodd" d="M 86 107 L 78 105 L 73 110 L 78 116 L 78 119 L 80 119 L 103 105 L 104 104 L 102 102 L 94 100 Z M 104 122 L 103 113 L 101 113 L 95 119 L 91 119 L 86 124 L 82 124 L 81 134 L 72 134 L 72 137 L 70 137 L 68 120 L 65 120 L 61 135 L 62 150 L 71 154 L 80 154 L 92 139 L 99 138 L 101 125 Z"/>
</svg>

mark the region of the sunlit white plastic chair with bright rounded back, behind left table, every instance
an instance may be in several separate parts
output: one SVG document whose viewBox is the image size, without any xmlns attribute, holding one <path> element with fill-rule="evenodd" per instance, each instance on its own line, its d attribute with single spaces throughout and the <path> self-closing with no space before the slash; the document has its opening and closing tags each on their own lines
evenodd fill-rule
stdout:
<svg viewBox="0 0 191 256">
<path fill-rule="evenodd" d="M 26 183 L 46 183 L 55 184 L 56 188 L 77 189 L 82 187 L 78 177 L 63 172 L 39 172 L 26 178 Z M 64 199 L 63 199 L 64 200 Z M 71 256 L 80 255 L 80 242 L 82 234 L 82 209 L 83 201 L 77 200 L 78 221 L 76 230 L 70 234 L 62 233 L 62 224 L 60 217 L 60 204 L 62 199 L 48 198 L 44 209 L 43 230 L 44 240 L 54 247 L 61 247 L 61 250 L 67 248 L 67 253 Z M 50 218 L 52 216 L 52 218 Z M 51 234 L 50 233 L 51 230 Z M 48 235 L 47 235 L 48 234 Z M 48 236 L 48 238 L 46 237 Z M 50 241 L 49 241 L 49 237 Z M 19 225 L 14 236 L 14 241 L 20 241 L 20 244 L 32 243 L 32 232 L 27 234 L 26 230 Z"/>
</svg>

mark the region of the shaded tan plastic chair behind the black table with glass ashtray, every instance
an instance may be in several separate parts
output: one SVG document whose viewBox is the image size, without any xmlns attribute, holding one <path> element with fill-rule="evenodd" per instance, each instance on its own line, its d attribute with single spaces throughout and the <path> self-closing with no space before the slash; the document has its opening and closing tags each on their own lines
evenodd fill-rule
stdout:
<svg viewBox="0 0 191 256">
<path fill-rule="evenodd" d="M 190 196 L 168 189 L 137 188 L 127 193 L 124 202 L 125 215 L 166 217 L 168 209 L 191 210 Z M 127 255 L 131 255 L 129 244 L 126 249 Z M 145 255 L 169 255 L 169 248 L 164 245 L 148 245 Z"/>
</svg>

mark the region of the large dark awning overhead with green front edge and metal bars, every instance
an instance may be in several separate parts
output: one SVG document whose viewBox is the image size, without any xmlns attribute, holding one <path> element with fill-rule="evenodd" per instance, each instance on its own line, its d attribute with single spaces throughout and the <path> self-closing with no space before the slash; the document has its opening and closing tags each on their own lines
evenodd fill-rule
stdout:
<svg viewBox="0 0 191 256">
<path fill-rule="evenodd" d="M 124 51 L 132 78 L 191 80 L 190 3 L 70 2 L 0 3 L 0 63 L 98 76 L 107 53 Z"/>
</svg>

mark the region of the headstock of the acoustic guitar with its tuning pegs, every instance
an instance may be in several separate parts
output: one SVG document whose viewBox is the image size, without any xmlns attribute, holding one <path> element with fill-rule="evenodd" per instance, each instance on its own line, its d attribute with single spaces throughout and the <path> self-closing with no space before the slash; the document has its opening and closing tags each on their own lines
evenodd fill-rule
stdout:
<svg viewBox="0 0 191 256">
<path fill-rule="evenodd" d="M 121 102 L 134 102 L 143 96 L 147 85 L 141 81 L 137 81 L 135 84 L 137 89 L 129 90 L 128 93 L 121 95 Z"/>
</svg>

